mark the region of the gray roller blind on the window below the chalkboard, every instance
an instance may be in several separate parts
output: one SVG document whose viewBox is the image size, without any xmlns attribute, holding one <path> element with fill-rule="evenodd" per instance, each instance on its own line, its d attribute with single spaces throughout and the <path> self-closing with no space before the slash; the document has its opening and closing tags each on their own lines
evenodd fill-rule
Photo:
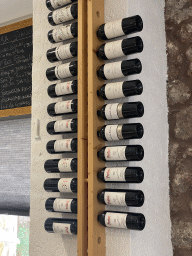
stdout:
<svg viewBox="0 0 192 256">
<path fill-rule="evenodd" d="M 0 121 L 0 213 L 29 215 L 31 119 Z"/>
</svg>

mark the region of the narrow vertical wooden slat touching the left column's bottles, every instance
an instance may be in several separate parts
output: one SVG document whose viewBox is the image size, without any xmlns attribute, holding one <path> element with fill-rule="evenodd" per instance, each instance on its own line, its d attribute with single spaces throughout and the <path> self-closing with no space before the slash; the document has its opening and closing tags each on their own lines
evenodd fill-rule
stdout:
<svg viewBox="0 0 192 256">
<path fill-rule="evenodd" d="M 78 1 L 78 235 L 77 255 L 88 248 L 87 0 Z"/>
</svg>

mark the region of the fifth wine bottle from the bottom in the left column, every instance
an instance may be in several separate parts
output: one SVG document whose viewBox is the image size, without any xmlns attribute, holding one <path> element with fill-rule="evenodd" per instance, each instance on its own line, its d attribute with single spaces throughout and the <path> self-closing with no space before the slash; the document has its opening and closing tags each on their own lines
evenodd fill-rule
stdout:
<svg viewBox="0 0 192 256">
<path fill-rule="evenodd" d="M 64 152 L 77 152 L 77 139 L 51 140 L 47 143 L 49 154 L 61 154 Z"/>
</svg>

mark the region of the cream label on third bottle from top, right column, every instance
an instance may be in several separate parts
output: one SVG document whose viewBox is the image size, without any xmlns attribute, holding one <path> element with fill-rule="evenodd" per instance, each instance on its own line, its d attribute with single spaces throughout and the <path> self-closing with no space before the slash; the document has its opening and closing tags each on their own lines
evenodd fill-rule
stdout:
<svg viewBox="0 0 192 256">
<path fill-rule="evenodd" d="M 124 76 L 121 70 L 121 63 L 121 61 L 118 61 L 104 65 L 104 75 L 108 80 Z"/>
</svg>

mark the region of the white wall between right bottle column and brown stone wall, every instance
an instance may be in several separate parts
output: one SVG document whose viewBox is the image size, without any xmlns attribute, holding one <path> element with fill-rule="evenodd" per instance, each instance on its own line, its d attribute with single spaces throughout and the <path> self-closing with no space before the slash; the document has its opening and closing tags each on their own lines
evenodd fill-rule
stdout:
<svg viewBox="0 0 192 256">
<path fill-rule="evenodd" d="M 166 97 L 166 39 L 164 23 L 164 0 L 105 0 L 105 22 L 128 16 L 140 15 L 144 22 L 142 32 L 129 37 L 141 36 L 144 50 L 128 59 L 139 58 L 142 72 L 130 76 L 129 80 L 140 79 L 144 86 L 143 94 L 120 101 L 141 101 L 145 114 L 142 118 L 129 122 L 141 122 L 144 136 L 140 140 L 122 141 L 120 144 L 140 144 L 145 156 L 141 162 L 127 163 L 127 166 L 140 166 L 145 173 L 143 183 L 136 185 L 111 185 L 110 188 L 141 189 L 145 203 L 140 208 L 113 207 L 113 210 L 140 212 L 146 217 L 143 231 L 107 229 L 107 256 L 171 256 L 171 222 L 169 209 L 169 169 L 168 169 L 168 120 Z M 125 59 L 125 58 L 124 58 Z M 119 79 L 120 80 L 120 79 Z M 107 103 L 107 101 L 106 101 Z M 125 123 L 126 121 L 123 121 Z M 108 121 L 106 123 L 117 123 Z M 122 123 L 122 121 L 119 121 Z M 111 145 L 113 143 L 106 143 Z M 117 143 L 115 143 L 117 145 Z M 107 166 L 112 166 L 108 164 Z M 121 164 L 118 164 L 119 166 Z M 125 166 L 125 165 L 124 165 Z M 112 209 L 106 207 L 106 209 Z"/>
</svg>

